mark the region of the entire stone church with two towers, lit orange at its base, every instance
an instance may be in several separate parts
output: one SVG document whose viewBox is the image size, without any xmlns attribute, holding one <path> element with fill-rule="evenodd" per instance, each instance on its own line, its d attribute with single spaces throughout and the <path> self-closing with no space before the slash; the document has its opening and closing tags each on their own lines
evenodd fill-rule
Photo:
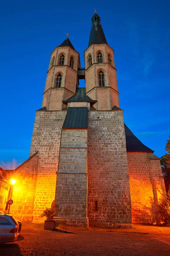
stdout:
<svg viewBox="0 0 170 256">
<path fill-rule="evenodd" d="M 91 20 L 85 67 L 68 37 L 51 52 L 30 157 L 13 170 L 11 213 L 42 222 L 53 207 L 71 226 L 153 223 L 165 189 L 160 159 L 124 123 L 114 50 L 96 12 Z"/>
</svg>

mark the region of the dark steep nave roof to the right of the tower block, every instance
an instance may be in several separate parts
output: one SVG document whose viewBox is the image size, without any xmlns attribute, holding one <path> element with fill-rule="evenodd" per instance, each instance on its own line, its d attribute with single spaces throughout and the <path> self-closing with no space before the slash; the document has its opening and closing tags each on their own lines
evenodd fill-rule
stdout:
<svg viewBox="0 0 170 256">
<path fill-rule="evenodd" d="M 125 125 L 126 151 L 127 152 L 151 152 L 154 151 L 145 146 Z"/>
</svg>

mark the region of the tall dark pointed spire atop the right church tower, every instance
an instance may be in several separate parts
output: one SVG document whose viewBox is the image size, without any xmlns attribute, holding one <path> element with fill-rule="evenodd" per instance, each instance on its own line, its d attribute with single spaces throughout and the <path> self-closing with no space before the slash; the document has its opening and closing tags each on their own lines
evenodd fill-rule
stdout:
<svg viewBox="0 0 170 256">
<path fill-rule="evenodd" d="M 107 44 L 105 34 L 102 29 L 102 25 L 100 24 L 100 17 L 99 15 L 97 15 L 96 11 L 91 21 L 92 21 L 92 26 L 91 26 L 88 47 L 91 44 Z"/>
</svg>

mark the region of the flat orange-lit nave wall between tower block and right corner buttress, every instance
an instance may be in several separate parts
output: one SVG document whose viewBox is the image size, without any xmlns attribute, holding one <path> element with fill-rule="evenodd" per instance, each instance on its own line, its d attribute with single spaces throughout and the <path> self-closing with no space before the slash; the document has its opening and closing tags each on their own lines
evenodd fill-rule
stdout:
<svg viewBox="0 0 170 256">
<path fill-rule="evenodd" d="M 150 170 L 150 161 L 159 163 L 159 171 L 160 161 L 150 160 L 147 153 L 144 152 L 128 152 L 127 161 L 132 201 L 132 222 L 153 223 L 155 221 L 152 213 L 154 205 L 154 174 Z M 161 179 L 163 178 L 161 177 Z"/>
</svg>

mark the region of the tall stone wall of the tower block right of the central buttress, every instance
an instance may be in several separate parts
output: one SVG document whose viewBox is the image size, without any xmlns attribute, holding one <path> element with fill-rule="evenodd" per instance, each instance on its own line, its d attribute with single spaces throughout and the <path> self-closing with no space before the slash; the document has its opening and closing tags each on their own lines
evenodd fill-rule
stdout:
<svg viewBox="0 0 170 256">
<path fill-rule="evenodd" d="M 88 113 L 89 225 L 131 224 L 123 111 Z"/>
</svg>

